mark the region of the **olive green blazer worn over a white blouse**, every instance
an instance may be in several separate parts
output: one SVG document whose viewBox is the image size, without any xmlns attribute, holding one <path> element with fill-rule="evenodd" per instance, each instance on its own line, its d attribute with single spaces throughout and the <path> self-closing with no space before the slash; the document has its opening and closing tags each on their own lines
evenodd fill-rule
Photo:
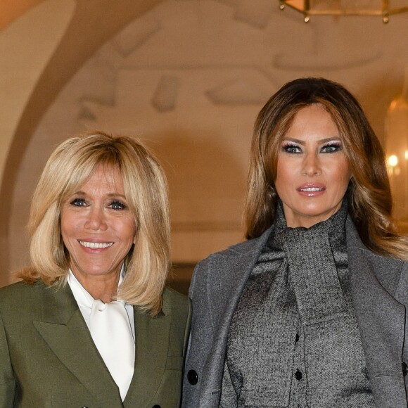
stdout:
<svg viewBox="0 0 408 408">
<path fill-rule="evenodd" d="M 67 285 L 0 289 L 0 407 L 176 408 L 189 300 L 171 289 L 151 318 L 134 307 L 134 376 L 122 402 Z"/>
</svg>

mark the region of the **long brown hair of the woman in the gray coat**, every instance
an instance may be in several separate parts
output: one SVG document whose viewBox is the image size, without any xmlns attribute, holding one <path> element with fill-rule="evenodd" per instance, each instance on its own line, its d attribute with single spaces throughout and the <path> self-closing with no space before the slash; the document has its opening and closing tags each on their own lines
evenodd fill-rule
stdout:
<svg viewBox="0 0 408 408">
<path fill-rule="evenodd" d="M 392 218 L 392 197 L 385 156 L 357 102 L 342 85 L 324 78 L 295 79 L 283 85 L 262 108 L 253 132 L 246 193 L 246 238 L 260 236 L 274 222 L 279 199 L 274 182 L 281 141 L 296 113 L 322 106 L 338 127 L 352 178 L 349 212 L 364 245 L 381 255 L 407 259 L 407 238 Z"/>
</svg>

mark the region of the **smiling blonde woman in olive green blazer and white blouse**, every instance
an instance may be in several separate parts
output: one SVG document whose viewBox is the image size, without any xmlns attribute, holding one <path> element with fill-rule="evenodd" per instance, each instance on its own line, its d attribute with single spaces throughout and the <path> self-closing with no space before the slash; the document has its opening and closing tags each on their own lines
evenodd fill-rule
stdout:
<svg viewBox="0 0 408 408">
<path fill-rule="evenodd" d="M 32 265 L 0 290 L 1 407 L 179 407 L 189 302 L 165 288 L 167 184 L 139 141 L 103 132 L 51 154 Z"/>
</svg>

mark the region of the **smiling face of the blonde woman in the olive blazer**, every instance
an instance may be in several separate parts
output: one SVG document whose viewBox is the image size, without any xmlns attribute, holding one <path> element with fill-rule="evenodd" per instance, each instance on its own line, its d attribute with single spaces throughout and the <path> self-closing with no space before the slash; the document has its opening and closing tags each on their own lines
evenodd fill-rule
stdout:
<svg viewBox="0 0 408 408">
<path fill-rule="evenodd" d="M 117 167 L 97 167 L 63 203 L 61 234 L 70 268 L 81 283 L 93 276 L 118 276 L 135 232 Z"/>
</svg>

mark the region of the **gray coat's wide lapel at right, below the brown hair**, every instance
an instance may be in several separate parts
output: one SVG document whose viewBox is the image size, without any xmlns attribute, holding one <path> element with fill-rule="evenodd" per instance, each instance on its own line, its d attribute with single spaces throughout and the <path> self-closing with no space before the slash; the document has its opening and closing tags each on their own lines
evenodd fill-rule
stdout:
<svg viewBox="0 0 408 408">
<path fill-rule="evenodd" d="M 393 297 L 403 262 L 367 250 L 350 219 L 346 231 L 352 298 L 374 400 L 381 408 L 405 408 L 401 366 L 405 307 Z M 381 279 L 381 274 L 388 279 Z"/>
</svg>

